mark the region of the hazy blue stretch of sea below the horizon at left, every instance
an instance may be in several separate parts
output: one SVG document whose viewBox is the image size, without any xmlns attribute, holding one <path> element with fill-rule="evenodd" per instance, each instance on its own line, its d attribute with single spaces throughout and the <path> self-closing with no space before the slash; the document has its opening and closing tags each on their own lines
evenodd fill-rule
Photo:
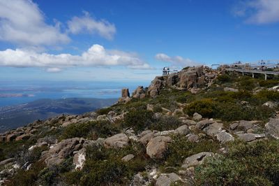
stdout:
<svg viewBox="0 0 279 186">
<path fill-rule="evenodd" d="M 130 94 L 150 82 L 70 82 L 70 81 L 0 81 L 0 107 L 28 103 L 37 99 L 119 98 L 123 87 Z"/>
</svg>

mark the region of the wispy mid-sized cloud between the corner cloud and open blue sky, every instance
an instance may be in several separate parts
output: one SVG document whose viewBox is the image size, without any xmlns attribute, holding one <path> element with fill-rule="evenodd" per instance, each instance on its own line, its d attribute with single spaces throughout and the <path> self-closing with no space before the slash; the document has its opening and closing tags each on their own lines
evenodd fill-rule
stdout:
<svg viewBox="0 0 279 186">
<path fill-rule="evenodd" d="M 116 28 L 114 24 L 106 20 L 95 20 L 89 13 L 84 12 L 84 16 L 75 16 L 68 21 L 68 31 L 72 34 L 80 34 L 82 32 L 99 34 L 104 38 L 112 39 L 116 33 Z"/>
</svg>

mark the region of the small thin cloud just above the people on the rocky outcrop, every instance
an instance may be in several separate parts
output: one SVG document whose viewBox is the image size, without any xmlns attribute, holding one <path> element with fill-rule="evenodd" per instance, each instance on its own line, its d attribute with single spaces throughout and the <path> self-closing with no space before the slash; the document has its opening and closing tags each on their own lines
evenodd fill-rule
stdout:
<svg viewBox="0 0 279 186">
<path fill-rule="evenodd" d="M 198 62 L 195 62 L 191 59 L 188 59 L 188 58 L 185 59 L 181 56 L 169 57 L 168 55 L 166 55 L 164 53 L 157 54 L 155 56 L 155 58 L 159 61 L 170 62 L 170 63 L 172 63 L 172 66 L 174 66 L 174 67 L 185 67 L 185 66 L 199 65 Z"/>
</svg>

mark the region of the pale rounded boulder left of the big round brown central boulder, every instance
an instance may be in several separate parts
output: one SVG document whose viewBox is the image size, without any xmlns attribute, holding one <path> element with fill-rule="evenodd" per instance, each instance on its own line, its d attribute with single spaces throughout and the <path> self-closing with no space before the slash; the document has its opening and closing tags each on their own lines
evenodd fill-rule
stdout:
<svg viewBox="0 0 279 186">
<path fill-rule="evenodd" d="M 126 134 L 116 134 L 110 138 L 106 138 L 104 145 L 106 148 L 124 148 L 128 143 L 129 138 Z"/>
</svg>

